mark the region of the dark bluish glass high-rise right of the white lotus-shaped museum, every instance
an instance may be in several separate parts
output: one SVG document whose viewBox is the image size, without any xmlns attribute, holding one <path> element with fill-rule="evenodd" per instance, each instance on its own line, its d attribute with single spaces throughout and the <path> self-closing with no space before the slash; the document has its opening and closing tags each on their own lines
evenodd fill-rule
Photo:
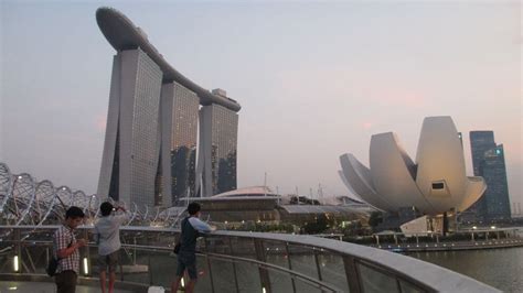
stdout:
<svg viewBox="0 0 523 293">
<path fill-rule="evenodd" d="M 487 183 L 487 191 L 471 210 L 479 220 L 510 218 L 503 144 L 495 144 L 493 131 L 470 131 L 470 148 L 474 176 L 482 176 Z"/>
</svg>

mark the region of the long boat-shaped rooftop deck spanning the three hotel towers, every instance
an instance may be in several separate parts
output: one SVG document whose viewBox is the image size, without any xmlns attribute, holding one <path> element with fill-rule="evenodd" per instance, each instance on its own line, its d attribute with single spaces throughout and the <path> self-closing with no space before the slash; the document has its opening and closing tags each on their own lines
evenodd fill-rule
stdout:
<svg viewBox="0 0 523 293">
<path fill-rule="evenodd" d="M 231 98 L 214 95 L 205 88 L 196 85 L 191 79 L 174 69 L 163 55 L 149 42 L 146 33 L 126 15 L 113 8 L 99 8 L 96 11 L 96 22 L 107 41 L 116 51 L 134 50 L 140 47 L 152 61 L 154 61 L 163 73 L 163 83 L 177 82 L 188 89 L 194 91 L 200 98 L 201 105 L 217 104 L 235 112 L 242 108 L 239 104 Z"/>
</svg>

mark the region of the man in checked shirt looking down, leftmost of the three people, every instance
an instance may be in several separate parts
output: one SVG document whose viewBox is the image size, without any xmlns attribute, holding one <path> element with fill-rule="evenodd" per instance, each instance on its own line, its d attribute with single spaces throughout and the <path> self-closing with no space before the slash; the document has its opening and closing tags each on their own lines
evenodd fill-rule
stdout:
<svg viewBox="0 0 523 293">
<path fill-rule="evenodd" d="M 86 246 L 85 239 L 76 239 L 74 230 L 84 221 L 84 211 L 72 206 L 65 211 L 65 221 L 53 235 L 53 254 L 58 260 L 56 275 L 57 293 L 75 293 L 79 272 L 81 247 Z"/>
</svg>

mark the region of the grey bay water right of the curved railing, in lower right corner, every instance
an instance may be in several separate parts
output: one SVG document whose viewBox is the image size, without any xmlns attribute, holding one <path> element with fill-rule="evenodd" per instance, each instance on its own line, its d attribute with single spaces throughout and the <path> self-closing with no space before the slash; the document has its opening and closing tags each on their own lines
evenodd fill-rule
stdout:
<svg viewBox="0 0 523 293">
<path fill-rule="evenodd" d="M 523 292 L 523 247 L 408 254 L 471 276 L 503 292 Z"/>
</svg>

